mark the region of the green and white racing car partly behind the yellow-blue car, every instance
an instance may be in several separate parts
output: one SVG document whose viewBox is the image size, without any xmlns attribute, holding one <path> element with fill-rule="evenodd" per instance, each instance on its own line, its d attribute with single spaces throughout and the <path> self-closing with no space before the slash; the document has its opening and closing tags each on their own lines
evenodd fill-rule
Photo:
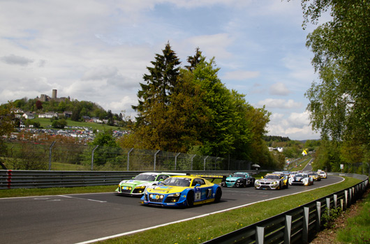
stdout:
<svg viewBox="0 0 370 244">
<path fill-rule="evenodd" d="M 158 173 L 146 172 L 141 173 L 131 180 L 121 181 L 116 189 L 119 195 L 131 195 L 141 197 L 144 194 L 145 188 L 148 185 L 157 185 L 160 181 L 165 180 L 170 176 L 179 175 L 177 173 Z M 186 175 L 186 174 L 182 174 Z"/>
</svg>

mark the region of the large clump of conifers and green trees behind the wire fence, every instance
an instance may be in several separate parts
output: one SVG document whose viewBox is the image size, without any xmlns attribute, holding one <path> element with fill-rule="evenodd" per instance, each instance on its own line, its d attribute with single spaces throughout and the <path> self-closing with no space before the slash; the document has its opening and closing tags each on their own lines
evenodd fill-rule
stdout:
<svg viewBox="0 0 370 244">
<path fill-rule="evenodd" d="M 283 164 L 263 140 L 270 113 L 227 89 L 214 59 L 207 61 L 197 48 L 181 67 L 169 43 L 162 51 L 143 75 L 133 106 L 136 123 L 119 142 L 122 147 Z"/>
</svg>

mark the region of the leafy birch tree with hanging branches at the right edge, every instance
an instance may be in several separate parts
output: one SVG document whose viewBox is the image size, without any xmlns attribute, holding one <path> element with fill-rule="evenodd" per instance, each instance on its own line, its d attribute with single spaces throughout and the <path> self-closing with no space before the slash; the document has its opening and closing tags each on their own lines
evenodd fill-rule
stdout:
<svg viewBox="0 0 370 244">
<path fill-rule="evenodd" d="M 302 0 L 305 23 L 326 10 L 333 19 L 307 37 L 321 82 L 306 92 L 314 130 L 331 139 L 370 142 L 370 2 Z"/>
</svg>

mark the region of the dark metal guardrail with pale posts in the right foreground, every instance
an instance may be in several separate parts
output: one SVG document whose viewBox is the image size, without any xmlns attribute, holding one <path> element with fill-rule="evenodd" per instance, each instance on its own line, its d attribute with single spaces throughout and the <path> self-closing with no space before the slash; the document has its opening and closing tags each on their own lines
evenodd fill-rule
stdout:
<svg viewBox="0 0 370 244">
<path fill-rule="evenodd" d="M 329 213 L 328 210 L 337 207 L 345 210 L 360 199 L 369 188 L 368 176 L 340 173 L 329 173 L 328 175 L 359 178 L 362 182 L 205 243 L 309 243 L 323 228 L 321 221 L 323 213 Z"/>
</svg>

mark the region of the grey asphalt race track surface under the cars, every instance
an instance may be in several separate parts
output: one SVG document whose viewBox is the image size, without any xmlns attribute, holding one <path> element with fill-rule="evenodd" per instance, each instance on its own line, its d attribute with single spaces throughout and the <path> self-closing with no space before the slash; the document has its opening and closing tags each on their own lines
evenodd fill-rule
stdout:
<svg viewBox="0 0 370 244">
<path fill-rule="evenodd" d="M 114 192 L 0 199 L 0 243 L 79 243 L 337 183 L 329 176 L 284 190 L 223 188 L 221 202 L 193 208 L 142 206 Z M 114 187 L 112 187 L 112 191 Z"/>
</svg>

